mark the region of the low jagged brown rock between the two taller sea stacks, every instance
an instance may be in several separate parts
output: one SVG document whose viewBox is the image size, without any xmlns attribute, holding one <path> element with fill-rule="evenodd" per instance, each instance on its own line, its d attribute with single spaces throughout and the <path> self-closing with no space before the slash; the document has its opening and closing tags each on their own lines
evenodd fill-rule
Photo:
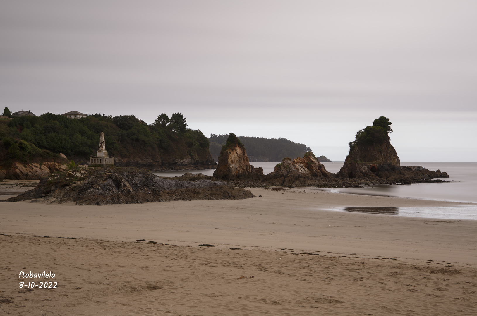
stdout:
<svg viewBox="0 0 477 316">
<path fill-rule="evenodd" d="M 293 160 L 286 157 L 275 166 L 272 173 L 264 177 L 264 182 L 273 185 L 301 186 L 312 185 L 317 179 L 332 177 L 332 173 L 318 161 L 312 152 L 307 152 L 303 158 Z"/>
</svg>

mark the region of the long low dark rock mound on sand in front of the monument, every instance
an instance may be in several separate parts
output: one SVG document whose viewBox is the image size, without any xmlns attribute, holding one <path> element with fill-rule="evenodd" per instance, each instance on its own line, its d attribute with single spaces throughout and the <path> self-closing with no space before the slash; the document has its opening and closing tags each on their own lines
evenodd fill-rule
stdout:
<svg viewBox="0 0 477 316">
<path fill-rule="evenodd" d="M 181 181 L 158 177 L 144 169 L 90 167 L 42 178 L 36 188 L 10 198 L 7 202 L 43 199 L 49 203 L 101 205 L 245 199 L 253 196 L 248 190 L 200 177 L 194 181 Z"/>
</svg>

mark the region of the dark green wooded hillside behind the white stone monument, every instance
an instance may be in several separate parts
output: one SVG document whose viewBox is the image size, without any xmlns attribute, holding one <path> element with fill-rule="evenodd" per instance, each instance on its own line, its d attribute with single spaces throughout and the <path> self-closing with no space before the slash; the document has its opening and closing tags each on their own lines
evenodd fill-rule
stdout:
<svg viewBox="0 0 477 316">
<path fill-rule="evenodd" d="M 38 150 L 63 153 L 70 159 L 87 160 L 90 155 L 96 154 L 101 132 L 104 132 L 109 156 L 119 158 L 118 161 L 126 165 L 130 165 L 128 161 L 156 166 L 174 164 L 180 160 L 190 161 L 191 164 L 212 162 L 207 137 L 200 130 L 187 128 L 186 118 L 181 113 L 174 113 L 170 118 L 161 114 L 151 125 L 145 124 L 135 115 L 113 117 L 94 114 L 81 119 L 69 119 L 45 113 L 2 119 L 0 161 L 6 165 L 21 158 L 23 163 L 27 163 L 32 159 L 30 153 Z M 24 147 L 30 149 L 24 150 Z"/>
</svg>

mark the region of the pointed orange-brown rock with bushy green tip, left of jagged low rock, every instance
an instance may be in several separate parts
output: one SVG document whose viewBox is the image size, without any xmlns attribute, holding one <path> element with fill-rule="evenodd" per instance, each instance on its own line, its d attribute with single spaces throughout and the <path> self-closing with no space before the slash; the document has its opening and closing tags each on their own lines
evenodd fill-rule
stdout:
<svg viewBox="0 0 477 316">
<path fill-rule="evenodd" d="M 218 157 L 214 177 L 223 180 L 257 179 L 263 176 L 263 169 L 250 165 L 245 146 L 234 133 L 230 133 Z"/>
</svg>

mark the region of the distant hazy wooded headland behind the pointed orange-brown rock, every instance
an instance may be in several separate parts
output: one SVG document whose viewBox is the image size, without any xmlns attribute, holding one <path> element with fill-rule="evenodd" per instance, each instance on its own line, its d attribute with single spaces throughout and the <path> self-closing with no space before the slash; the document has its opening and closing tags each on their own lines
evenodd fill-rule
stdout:
<svg viewBox="0 0 477 316">
<path fill-rule="evenodd" d="M 218 154 L 227 137 L 228 134 L 210 134 L 210 153 L 215 160 L 218 160 Z M 250 162 L 280 162 L 285 157 L 302 157 L 311 151 L 307 145 L 293 143 L 286 138 L 239 136 L 239 140 L 245 145 Z"/>
</svg>

